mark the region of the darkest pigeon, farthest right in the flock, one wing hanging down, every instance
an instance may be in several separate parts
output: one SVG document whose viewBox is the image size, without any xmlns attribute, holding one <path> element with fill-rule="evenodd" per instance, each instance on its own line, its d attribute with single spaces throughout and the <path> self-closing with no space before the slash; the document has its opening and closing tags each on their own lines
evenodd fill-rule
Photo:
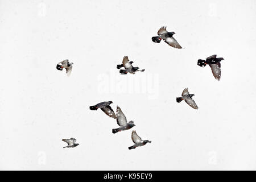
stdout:
<svg viewBox="0 0 256 182">
<path fill-rule="evenodd" d="M 216 57 L 217 55 L 212 55 L 207 57 L 206 60 L 199 59 L 197 61 L 197 65 L 200 67 L 205 67 L 207 64 L 209 65 L 210 69 L 212 69 L 212 74 L 214 78 L 220 81 L 221 77 L 221 68 L 220 68 L 220 61 L 224 60 L 223 57 Z"/>
</svg>

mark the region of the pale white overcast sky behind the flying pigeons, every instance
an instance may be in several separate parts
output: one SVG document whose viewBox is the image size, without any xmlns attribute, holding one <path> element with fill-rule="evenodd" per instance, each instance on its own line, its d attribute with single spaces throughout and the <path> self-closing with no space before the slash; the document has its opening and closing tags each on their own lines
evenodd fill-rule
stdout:
<svg viewBox="0 0 256 182">
<path fill-rule="evenodd" d="M 0 169 L 255 170 L 255 19 L 254 0 L 0 1 Z M 153 43 L 161 26 L 185 49 Z M 213 54 L 219 82 L 197 65 Z M 119 75 L 126 55 L 146 71 Z M 128 150 L 102 101 L 152 143 Z"/>
</svg>

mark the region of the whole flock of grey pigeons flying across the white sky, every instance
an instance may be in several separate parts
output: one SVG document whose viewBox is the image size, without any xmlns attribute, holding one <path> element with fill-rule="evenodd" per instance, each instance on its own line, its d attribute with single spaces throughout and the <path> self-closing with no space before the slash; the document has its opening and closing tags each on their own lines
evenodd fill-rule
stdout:
<svg viewBox="0 0 256 182">
<path fill-rule="evenodd" d="M 158 36 L 152 37 L 152 42 L 160 43 L 161 40 L 164 40 L 164 42 L 166 42 L 169 46 L 181 49 L 182 47 L 180 46 L 179 43 L 177 43 L 177 40 L 173 37 L 174 34 L 175 32 L 168 32 L 166 30 L 166 27 L 161 27 L 158 30 Z M 220 81 L 220 77 L 221 77 L 220 61 L 221 60 L 224 60 L 224 59 L 222 57 L 217 57 L 217 55 L 212 55 L 207 57 L 207 59 L 205 60 L 199 59 L 197 61 L 197 65 L 199 65 L 200 67 L 205 67 L 206 65 L 209 65 L 210 69 L 212 69 L 214 78 Z M 58 63 L 56 68 L 60 71 L 62 71 L 65 68 L 67 76 L 70 76 L 72 71 L 72 64 L 73 63 L 69 63 L 68 60 L 64 60 Z M 127 73 L 135 74 L 135 72 L 138 72 L 138 71 L 139 72 L 145 71 L 145 69 L 139 70 L 139 67 L 133 67 L 132 64 L 133 64 L 133 61 L 130 61 L 128 59 L 128 56 L 125 56 L 123 57 L 122 64 L 117 65 L 117 69 L 120 69 L 119 73 L 121 73 L 121 75 L 126 75 Z M 121 69 L 121 68 L 124 68 L 124 69 Z M 192 98 L 193 96 L 195 96 L 195 94 L 190 94 L 188 92 L 188 89 L 186 88 L 181 93 L 181 97 L 176 97 L 176 101 L 179 103 L 184 100 L 193 109 L 198 109 L 196 102 Z M 113 134 L 118 133 L 120 131 L 129 130 L 132 127 L 134 127 L 135 126 L 134 122 L 133 121 L 127 122 L 125 114 L 123 114 L 119 106 L 117 106 L 117 112 L 115 114 L 114 110 L 110 106 L 110 104 L 112 103 L 113 103 L 112 101 L 100 102 L 99 104 L 90 106 L 89 108 L 90 110 L 97 110 L 100 108 L 109 117 L 117 119 L 117 124 L 119 125 L 119 127 L 117 129 L 112 129 Z M 133 130 L 131 133 L 131 139 L 133 140 L 134 145 L 129 147 L 129 150 L 139 146 L 144 146 L 147 143 L 151 143 L 150 140 L 142 140 L 135 130 Z M 79 143 L 76 143 L 75 138 L 63 139 L 63 141 L 68 143 L 68 146 L 65 146 L 63 148 L 76 147 L 79 145 Z"/>
</svg>

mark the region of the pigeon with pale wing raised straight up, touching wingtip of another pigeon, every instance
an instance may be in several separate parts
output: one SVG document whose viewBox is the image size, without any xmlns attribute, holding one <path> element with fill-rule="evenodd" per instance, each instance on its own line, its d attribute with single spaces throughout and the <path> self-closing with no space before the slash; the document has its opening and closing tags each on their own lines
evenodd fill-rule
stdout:
<svg viewBox="0 0 256 182">
<path fill-rule="evenodd" d="M 112 133 L 117 133 L 118 131 L 129 130 L 134 127 L 133 121 L 127 123 L 125 114 L 123 114 L 121 108 L 117 106 L 117 124 L 120 126 L 118 129 L 112 129 Z"/>
</svg>

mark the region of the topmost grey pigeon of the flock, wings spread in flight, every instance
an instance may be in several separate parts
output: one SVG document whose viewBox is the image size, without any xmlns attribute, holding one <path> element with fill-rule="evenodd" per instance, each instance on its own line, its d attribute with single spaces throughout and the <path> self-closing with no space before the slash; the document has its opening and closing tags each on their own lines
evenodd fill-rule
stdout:
<svg viewBox="0 0 256 182">
<path fill-rule="evenodd" d="M 177 43 L 177 40 L 173 37 L 174 34 L 175 32 L 167 32 L 166 27 L 161 27 L 158 30 L 159 36 L 153 36 L 152 42 L 160 43 L 161 40 L 163 39 L 164 42 L 166 42 L 169 46 L 181 49 L 182 47 L 180 46 L 179 43 Z"/>
</svg>

